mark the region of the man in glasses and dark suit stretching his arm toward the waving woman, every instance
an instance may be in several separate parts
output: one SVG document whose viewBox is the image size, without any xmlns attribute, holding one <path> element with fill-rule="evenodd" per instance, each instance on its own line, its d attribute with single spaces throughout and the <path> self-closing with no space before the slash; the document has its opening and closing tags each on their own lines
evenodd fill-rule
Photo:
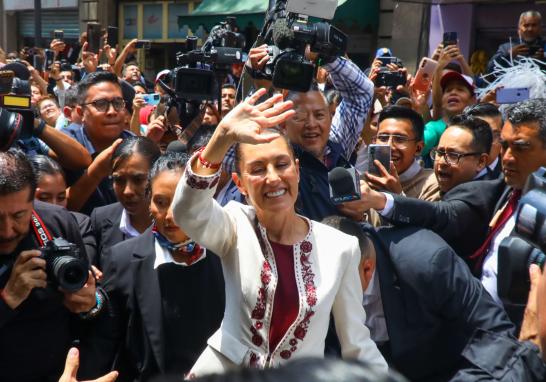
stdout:
<svg viewBox="0 0 546 382">
<path fill-rule="evenodd" d="M 504 189 L 502 180 L 473 181 L 486 166 L 491 140 L 491 129 L 481 119 L 453 120 L 433 151 L 443 194 L 439 202 L 378 192 L 361 184 L 361 199 L 346 205 L 362 211 L 373 208 L 395 225 L 428 228 L 468 259 L 483 242 Z"/>
</svg>

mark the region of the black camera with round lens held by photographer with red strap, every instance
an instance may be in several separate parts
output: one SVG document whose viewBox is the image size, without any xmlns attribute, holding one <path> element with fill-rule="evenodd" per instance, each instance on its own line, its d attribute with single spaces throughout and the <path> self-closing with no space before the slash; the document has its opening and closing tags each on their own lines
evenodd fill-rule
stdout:
<svg viewBox="0 0 546 382">
<path fill-rule="evenodd" d="M 76 244 L 65 239 L 55 238 L 41 248 L 46 261 L 48 280 L 68 292 L 77 292 L 87 282 L 89 265 L 80 256 Z"/>
</svg>

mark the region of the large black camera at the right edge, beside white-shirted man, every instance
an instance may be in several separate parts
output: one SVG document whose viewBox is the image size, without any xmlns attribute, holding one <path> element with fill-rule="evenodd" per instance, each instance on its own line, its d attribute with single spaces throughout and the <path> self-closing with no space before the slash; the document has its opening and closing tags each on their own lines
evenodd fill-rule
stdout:
<svg viewBox="0 0 546 382">
<path fill-rule="evenodd" d="M 529 267 L 546 262 L 546 168 L 527 179 L 516 212 L 514 236 L 505 238 L 498 251 L 498 293 L 505 303 L 525 304 L 529 294 Z"/>
</svg>

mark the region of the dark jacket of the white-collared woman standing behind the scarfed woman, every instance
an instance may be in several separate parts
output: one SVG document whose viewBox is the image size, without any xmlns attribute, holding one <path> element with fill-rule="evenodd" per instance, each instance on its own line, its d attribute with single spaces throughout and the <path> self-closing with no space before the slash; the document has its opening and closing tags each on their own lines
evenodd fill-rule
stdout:
<svg viewBox="0 0 546 382">
<path fill-rule="evenodd" d="M 109 248 L 128 237 L 119 230 L 123 206 L 117 202 L 107 206 L 97 207 L 91 213 L 91 226 L 95 240 L 97 241 L 97 256 L 93 262 L 99 269 L 102 267 L 102 256 L 106 248 Z"/>
</svg>

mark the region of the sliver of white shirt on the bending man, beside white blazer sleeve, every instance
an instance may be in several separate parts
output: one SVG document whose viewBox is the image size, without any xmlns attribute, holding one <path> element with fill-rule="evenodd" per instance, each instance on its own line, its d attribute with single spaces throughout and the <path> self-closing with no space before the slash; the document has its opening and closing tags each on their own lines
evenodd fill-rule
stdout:
<svg viewBox="0 0 546 382">
<path fill-rule="evenodd" d="M 374 271 L 372 279 L 364 291 L 362 305 L 366 311 L 366 326 L 370 329 L 372 340 L 376 343 L 382 343 L 389 340 L 389 333 L 387 332 L 387 322 L 385 321 L 385 312 L 381 301 L 379 277 L 375 277 L 375 275 L 376 272 Z"/>
</svg>

